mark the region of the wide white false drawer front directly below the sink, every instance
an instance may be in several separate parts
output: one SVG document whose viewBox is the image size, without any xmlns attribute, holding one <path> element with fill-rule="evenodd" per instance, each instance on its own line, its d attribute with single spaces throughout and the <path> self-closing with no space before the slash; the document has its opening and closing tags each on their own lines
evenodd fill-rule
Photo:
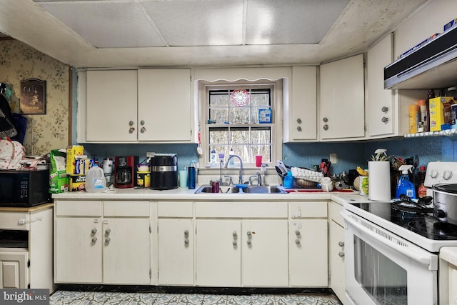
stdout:
<svg viewBox="0 0 457 305">
<path fill-rule="evenodd" d="M 197 218 L 287 218 L 281 202 L 196 202 Z"/>
</svg>

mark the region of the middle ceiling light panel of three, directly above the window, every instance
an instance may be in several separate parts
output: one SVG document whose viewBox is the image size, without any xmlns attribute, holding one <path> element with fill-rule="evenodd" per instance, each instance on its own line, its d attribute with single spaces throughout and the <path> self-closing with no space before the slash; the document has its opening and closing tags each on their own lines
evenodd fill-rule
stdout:
<svg viewBox="0 0 457 305">
<path fill-rule="evenodd" d="M 179 0 L 141 3 L 170 46 L 243 43 L 243 1 Z"/>
</svg>

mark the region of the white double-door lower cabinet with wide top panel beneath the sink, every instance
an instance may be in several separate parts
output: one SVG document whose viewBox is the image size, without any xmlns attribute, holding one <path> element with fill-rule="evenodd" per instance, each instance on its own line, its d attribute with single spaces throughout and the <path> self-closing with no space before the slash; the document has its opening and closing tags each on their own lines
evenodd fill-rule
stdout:
<svg viewBox="0 0 457 305">
<path fill-rule="evenodd" d="M 287 206 L 196 202 L 196 284 L 288 286 Z"/>
</svg>

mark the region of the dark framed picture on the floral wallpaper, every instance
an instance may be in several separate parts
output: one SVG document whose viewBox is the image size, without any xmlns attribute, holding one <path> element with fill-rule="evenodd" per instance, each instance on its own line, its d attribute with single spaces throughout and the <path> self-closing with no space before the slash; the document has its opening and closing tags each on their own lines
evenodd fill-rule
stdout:
<svg viewBox="0 0 457 305">
<path fill-rule="evenodd" d="M 46 114 L 46 81 L 21 81 L 21 114 Z"/>
</svg>

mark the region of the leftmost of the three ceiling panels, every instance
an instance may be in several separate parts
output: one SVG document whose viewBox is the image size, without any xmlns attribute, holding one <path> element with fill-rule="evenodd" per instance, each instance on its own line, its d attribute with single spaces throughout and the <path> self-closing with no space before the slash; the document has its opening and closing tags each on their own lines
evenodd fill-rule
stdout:
<svg viewBox="0 0 457 305">
<path fill-rule="evenodd" d="M 46 1 L 38 4 L 97 48 L 166 45 L 137 2 Z"/>
</svg>

